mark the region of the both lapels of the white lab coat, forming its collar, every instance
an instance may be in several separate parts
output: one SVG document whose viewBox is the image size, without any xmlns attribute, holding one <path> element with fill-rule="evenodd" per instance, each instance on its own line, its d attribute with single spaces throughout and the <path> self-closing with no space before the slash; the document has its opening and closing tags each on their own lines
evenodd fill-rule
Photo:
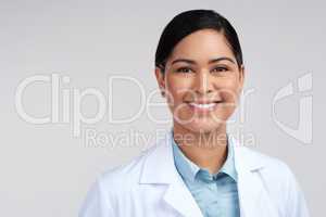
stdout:
<svg viewBox="0 0 326 217">
<path fill-rule="evenodd" d="M 147 154 L 142 166 L 139 183 L 168 184 L 164 193 L 164 201 L 186 217 L 202 217 L 201 210 L 176 170 L 171 131 L 159 141 Z M 238 173 L 238 193 L 241 217 L 275 217 L 268 194 L 255 171 L 264 168 L 264 161 L 259 154 L 251 152 L 240 144 L 234 137 L 235 165 Z M 262 205 L 259 208 L 259 205 Z M 264 215 L 262 215 L 262 209 Z"/>
</svg>

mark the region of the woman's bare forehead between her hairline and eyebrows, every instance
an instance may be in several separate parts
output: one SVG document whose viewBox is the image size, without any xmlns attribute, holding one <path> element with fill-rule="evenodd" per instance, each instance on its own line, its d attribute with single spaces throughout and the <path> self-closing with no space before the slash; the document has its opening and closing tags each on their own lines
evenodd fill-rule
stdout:
<svg viewBox="0 0 326 217">
<path fill-rule="evenodd" d="M 181 39 L 175 46 L 170 59 L 189 58 L 205 61 L 220 56 L 228 56 L 235 60 L 225 36 L 214 29 L 202 29 Z"/>
</svg>

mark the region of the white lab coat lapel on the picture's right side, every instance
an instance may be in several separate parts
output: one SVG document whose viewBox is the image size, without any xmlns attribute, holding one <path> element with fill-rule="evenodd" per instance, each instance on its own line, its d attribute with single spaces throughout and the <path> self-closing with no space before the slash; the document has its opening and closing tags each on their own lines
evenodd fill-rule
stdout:
<svg viewBox="0 0 326 217">
<path fill-rule="evenodd" d="M 264 169 L 263 157 L 253 154 L 234 138 L 231 140 L 238 173 L 241 217 L 277 217 L 277 210 L 259 173 L 260 169 Z"/>
</svg>

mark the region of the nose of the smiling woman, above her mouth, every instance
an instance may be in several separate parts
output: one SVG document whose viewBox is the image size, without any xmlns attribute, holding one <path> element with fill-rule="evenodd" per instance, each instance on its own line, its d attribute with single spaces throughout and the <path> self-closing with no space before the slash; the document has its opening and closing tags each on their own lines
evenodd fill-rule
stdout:
<svg viewBox="0 0 326 217">
<path fill-rule="evenodd" d="M 213 91 L 213 84 L 210 73 L 201 71 L 197 74 L 195 80 L 195 91 L 200 95 L 204 95 Z"/>
</svg>

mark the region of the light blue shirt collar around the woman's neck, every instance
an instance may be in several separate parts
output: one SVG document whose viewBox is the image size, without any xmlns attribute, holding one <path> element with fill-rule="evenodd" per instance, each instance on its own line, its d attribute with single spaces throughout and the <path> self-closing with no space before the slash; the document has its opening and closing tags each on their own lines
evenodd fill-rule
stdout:
<svg viewBox="0 0 326 217">
<path fill-rule="evenodd" d="M 181 177 L 186 180 L 195 181 L 196 175 L 199 171 L 204 171 L 201 174 L 205 174 L 208 176 L 216 176 L 217 174 L 226 174 L 229 177 L 231 177 L 235 181 L 238 180 L 237 171 L 235 167 L 235 161 L 234 161 L 234 145 L 230 143 L 229 136 L 227 133 L 227 157 L 225 163 L 223 164 L 222 168 L 218 173 L 214 175 L 210 175 L 209 170 L 205 168 L 201 168 L 198 165 L 196 165 L 193 162 L 191 162 L 179 149 L 178 144 L 175 142 L 173 138 L 173 131 L 172 133 L 172 145 L 173 145 L 173 155 L 174 155 L 174 162 L 175 166 L 178 170 L 178 173 L 181 175 Z"/>
</svg>

